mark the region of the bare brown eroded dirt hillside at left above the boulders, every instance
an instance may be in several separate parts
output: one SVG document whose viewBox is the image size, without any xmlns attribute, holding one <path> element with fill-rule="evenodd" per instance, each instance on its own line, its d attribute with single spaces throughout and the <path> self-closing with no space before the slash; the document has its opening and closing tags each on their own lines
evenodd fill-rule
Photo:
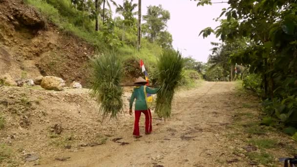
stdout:
<svg viewBox="0 0 297 167">
<path fill-rule="evenodd" d="M 94 48 L 47 23 L 22 0 L 0 1 L 0 75 L 14 79 L 54 75 L 89 85 Z"/>
</svg>

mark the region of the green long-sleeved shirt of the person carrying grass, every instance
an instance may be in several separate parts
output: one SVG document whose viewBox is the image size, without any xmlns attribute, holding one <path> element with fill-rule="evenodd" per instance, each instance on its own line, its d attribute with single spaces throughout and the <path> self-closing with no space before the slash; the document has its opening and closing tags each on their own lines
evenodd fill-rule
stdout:
<svg viewBox="0 0 297 167">
<path fill-rule="evenodd" d="M 156 94 L 159 89 L 160 88 L 150 89 L 148 86 L 146 86 L 146 91 L 148 94 Z M 130 109 L 132 109 L 134 99 L 136 99 L 135 110 L 147 110 L 148 109 L 144 86 L 135 87 L 133 89 L 131 99 L 130 99 Z"/>
</svg>

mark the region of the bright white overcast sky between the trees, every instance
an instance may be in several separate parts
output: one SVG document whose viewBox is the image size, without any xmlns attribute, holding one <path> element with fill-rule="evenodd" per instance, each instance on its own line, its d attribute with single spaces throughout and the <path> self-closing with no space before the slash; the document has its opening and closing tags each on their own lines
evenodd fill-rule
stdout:
<svg viewBox="0 0 297 167">
<path fill-rule="evenodd" d="M 115 0 L 123 4 L 123 0 Z M 212 0 L 220 2 L 219 0 Z M 138 3 L 138 0 L 133 0 Z M 198 6 L 193 0 L 142 0 L 142 15 L 147 14 L 147 6 L 161 4 L 163 9 L 169 10 L 170 20 L 167 29 L 172 34 L 173 47 L 179 49 L 183 56 L 192 56 L 200 62 L 207 62 L 211 42 L 219 42 L 214 35 L 203 39 L 198 36 L 200 31 L 206 27 L 215 28 L 219 22 L 214 21 L 223 8 L 228 8 L 227 3 L 216 3 L 212 5 Z M 114 7 L 113 7 L 114 8 Z M 138 7 L 137 9 L 138 10 Z"/>
</svg>

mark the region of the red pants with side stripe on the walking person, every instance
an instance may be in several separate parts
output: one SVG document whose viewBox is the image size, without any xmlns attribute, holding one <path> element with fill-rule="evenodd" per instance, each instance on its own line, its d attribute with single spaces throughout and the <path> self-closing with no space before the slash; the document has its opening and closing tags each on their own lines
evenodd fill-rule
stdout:
<svg viewBox="0 0 297 167">
<path fill-rule="evenodd" d="M 139 119 L 140 119 L 140 115 L 141 113 L 144 113 L 146 116 L 146 133 L 150 133 L 151 132 L 151 113 L 150 113 L 150 109 L 148 110 L 135 110 L 135 121 L 134 121 L 134 131 L 133 131 L 133 135 L 135 136 L 139 136 Z"/>
</svg>

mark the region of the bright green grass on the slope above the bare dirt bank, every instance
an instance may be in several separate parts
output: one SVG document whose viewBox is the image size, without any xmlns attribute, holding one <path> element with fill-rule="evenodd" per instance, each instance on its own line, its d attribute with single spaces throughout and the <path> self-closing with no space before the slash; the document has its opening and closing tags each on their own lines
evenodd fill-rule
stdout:
<svg viewBox="0 0 297 167">
<path fill-rule="evenodd" d="M 107 44 L 104 42 L 102 34 L 93 30 L 95 27 L 94 20 L 83 17 L 84 13 L 73 8 L 70 0 L 47 0 L 47 2 L 44 0 L 25 0 L 25 2 L 37 8 L 48 21 L 57 25 L 64 32 L 85 40 L 101 53 L 107 51 Z M 100 22 L 100 24 L 102 23 Z M 142 39 L 140 52 L 135 47 L 125 43 L 117 48 L 117 52 L 124 61 L 143 59 L 148 64 L 147 66 L 151 66 L 156 63 L 156 56 L 162 53 L 162 48 L 155 43 Z"/>
</svg>

